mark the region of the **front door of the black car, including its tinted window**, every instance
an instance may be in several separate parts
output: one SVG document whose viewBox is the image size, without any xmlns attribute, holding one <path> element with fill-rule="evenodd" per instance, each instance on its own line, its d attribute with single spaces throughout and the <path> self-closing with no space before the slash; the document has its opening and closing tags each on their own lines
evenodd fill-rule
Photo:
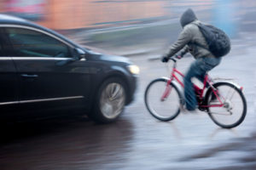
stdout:
<svg viewBox="0 0 256 170">
<path fill-rule="evenodd" d="M 74 59 L 72 45 L 30 27 L 7 27 L 12 58 L 20 78 L 20 104 L 32 110 L 84 105 L 90 75 L 84 60 Z"/>
</svg>

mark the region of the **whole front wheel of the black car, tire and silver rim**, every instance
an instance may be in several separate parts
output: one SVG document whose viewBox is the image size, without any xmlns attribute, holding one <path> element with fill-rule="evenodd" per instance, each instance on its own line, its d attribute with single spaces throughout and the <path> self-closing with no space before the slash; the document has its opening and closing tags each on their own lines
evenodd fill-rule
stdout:
<svg viewBox="0 0 256 170">
<path fill-rule="evenodd" d="M 95 122 L 113 122 L 124 111 L 126 87 L 118 77 L 108 78 L 102 83 L 96 95 L 94 111 L 90 117 Z"/>
</svg>

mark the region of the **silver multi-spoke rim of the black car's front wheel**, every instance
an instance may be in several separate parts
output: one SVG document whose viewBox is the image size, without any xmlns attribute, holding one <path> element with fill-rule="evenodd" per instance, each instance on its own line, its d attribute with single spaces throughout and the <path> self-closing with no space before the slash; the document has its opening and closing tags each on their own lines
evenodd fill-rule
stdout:
<svg viewBox="0 0 256 170">
<path fill-rule="evenodd" d="M 125 89 L 116 82 L 109 83 L 102 91 L 101 111 L 103 116 L 113 119 L 123 111 L 125 105 Z"/>
</svg>

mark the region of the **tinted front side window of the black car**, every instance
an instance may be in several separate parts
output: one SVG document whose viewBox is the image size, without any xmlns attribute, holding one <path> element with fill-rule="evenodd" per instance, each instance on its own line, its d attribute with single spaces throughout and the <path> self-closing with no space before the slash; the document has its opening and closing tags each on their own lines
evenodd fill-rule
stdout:
<svg viewBox="0 0 256 170">
<path fill-rule="evenodd" d="M 23 28 L 7 28 L 6 31 L 15 57 L 71 57 L 67 45 L 54 37 Z"/>
</svg>

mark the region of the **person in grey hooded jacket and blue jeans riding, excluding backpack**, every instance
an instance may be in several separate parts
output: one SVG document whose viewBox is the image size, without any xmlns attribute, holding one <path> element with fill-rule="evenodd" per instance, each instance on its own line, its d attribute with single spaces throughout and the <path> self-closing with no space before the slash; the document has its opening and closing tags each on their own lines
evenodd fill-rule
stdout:
<svg viewBox="0 0 256 170">
<path fill-rule="evenodd" d="M 197 20 L 194 11 L 191 8 L 187 9 L 180 18 L 183 31 L 181 31 L 177 41 L 171 45 L 168 53 L 162 57 L 162 62 L 167 62 L 170 57 L 179 51 L 180 53 L 176 55 L 178 58 L 182 58 L 188 52 L 194 56 L 195 61 L 190 65 L 184 77 L 184 97 L 186 109 L 189 111 L 195 111 L 197 107 L 191 78 L 196 77 L 202 82 L 207 71 L 211 71 L 221 61 L 220 57 L 215 57 L 207 48 L 202 48 L 202 46 L 207 47 L 207 42 L 198 26 L 196 26 L 199 23 L 201 21 Z M 201 46 L 197 44 L 201 44 Z"/>
</svg>

